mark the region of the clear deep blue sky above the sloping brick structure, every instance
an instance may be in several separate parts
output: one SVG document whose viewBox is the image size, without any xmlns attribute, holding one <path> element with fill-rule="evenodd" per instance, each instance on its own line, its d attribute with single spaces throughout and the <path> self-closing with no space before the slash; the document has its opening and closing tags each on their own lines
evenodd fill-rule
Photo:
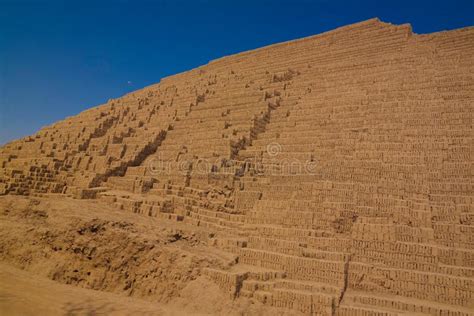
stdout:
<svg viewBox="0 0 474 316">
<path fill-rule="evenodd" d="M 0 144 L 209 60 L 379 17 L 474 25 L 474 0 L 0 0 Z"/>
</svg>

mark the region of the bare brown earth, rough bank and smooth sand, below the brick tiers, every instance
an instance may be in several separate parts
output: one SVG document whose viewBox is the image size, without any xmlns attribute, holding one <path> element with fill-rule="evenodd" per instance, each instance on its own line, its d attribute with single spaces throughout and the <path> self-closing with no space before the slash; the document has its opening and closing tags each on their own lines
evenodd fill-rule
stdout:
<svg viewBox="0 0 474 316">
<path fill-rule="evenodd" d="M 283 314 L 202 275 L 235 263 L 207 246 L 217 237 L 92 201 L 1 197 L 0 313 Z"/>
</svg>

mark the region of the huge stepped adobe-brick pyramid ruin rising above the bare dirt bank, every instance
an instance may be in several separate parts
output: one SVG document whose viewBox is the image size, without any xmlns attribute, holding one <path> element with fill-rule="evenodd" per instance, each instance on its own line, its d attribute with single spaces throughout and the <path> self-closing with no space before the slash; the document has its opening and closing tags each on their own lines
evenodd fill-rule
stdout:
<svg viewBox="0 0 474 316">
<path fill-rule="evenodd" d="M 0 193 L 219 232 L 231 297 L 472 315 L 474 28 L 371 19 L 227 56 L 0 149 Z"/>
</svg>

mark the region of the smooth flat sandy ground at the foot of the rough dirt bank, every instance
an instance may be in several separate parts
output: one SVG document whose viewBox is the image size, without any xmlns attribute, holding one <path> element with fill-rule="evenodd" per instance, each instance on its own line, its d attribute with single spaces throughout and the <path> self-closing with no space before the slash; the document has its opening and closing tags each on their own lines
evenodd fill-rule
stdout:
<svg viewBox="0 0 474 316">
<path fill-rule="evenodd" d="M 160 304 L 60 284 L 0 265 L 2 315 L 179 315 Z"/>
</svg>

